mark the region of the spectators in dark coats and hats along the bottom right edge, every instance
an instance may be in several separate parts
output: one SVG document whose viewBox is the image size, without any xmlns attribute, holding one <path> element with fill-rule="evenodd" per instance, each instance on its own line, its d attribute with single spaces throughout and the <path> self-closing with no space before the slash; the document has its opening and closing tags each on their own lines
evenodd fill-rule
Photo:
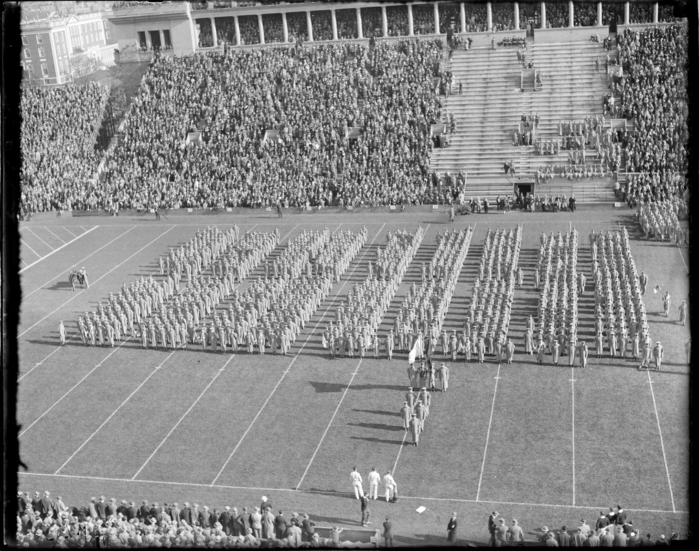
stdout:
<svg viewBox="0 0 699 551">
<path fill-rule="evenodd" d="M 498 517 L 498 511 L 491 512 L 488 517 L 490 546 L 524 545 L 522 542 L 526 532 L 517 519 L 512 519 L 507 524 L 504 518 Z M 541 526 L 534 530 L 541 534 L 538 536 L 538 542 L 542 547 L 652 547 L 670 545 L 671 542 L 679 540 L 677 532 L 673 532 L 670 538 L 660 534 L 654 539 L 647 531 L 644 535 L 644 530 L 633 525 L 628 511 L 621 505 L 610 507 L 608 512 L 600 511 L 599 517 L 590 524 L 581 518 L 575 528 L 568 528 L 564 524 L 560 530 L 549 529 L 549 526 Z"/>
</svg>

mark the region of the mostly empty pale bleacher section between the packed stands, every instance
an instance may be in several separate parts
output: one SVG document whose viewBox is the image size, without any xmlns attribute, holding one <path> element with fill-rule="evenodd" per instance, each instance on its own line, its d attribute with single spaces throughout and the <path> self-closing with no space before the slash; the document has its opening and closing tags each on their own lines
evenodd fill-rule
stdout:
<svg viewBox="0 0 699 551">
<path fill-rule="evenodd" d="M 535 170 L 545 165 L 565 165 L 568 151 L 559 155 L 533 155 L 533 148 L 512 146 L 512 132 L 521 114 L 538 113 L 538 139 L 560 139 L 559 120 L 583 120 L 602 114 L 602 96 L 607 92 L 606 52 L 601 43 L 528 43 L 527 59 L 534 62 L 544 80 L 538 92 L 520 92 L 517 48 L 474 48 L 456 50 L 452 60 L 454 92 L 445 108 L 454 113 L 456 134 L 449 148 L 437 148 L 431 169 L 467 173 L 467 197 L 494 199 L 512 193 L 514 183 L 531 181 Z M 600 72 L 595 58 L 600 57 Z M 463 95 L 458 95 L 458 81 Z M 597 164 L 593 155 L 588 161 Z M 517 174 L 505 177 L 503 163 L 513 160 Z M 611 178 L 553 179 L 539 186 L 541 195 L 575 194 L 580 203 L 612 202 Z"/>
</svg>

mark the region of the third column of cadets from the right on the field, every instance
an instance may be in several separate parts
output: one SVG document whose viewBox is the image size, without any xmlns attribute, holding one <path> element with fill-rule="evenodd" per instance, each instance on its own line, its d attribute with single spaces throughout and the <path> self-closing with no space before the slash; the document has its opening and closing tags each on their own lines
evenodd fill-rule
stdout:
<svg viewBox="0 0 699 551">
<path fill-rule="evenodd" d="M 498 362 L 507 354 L 507 362 L 512 361 L 514 344 L 507 337 L 507 331 L 521 237 L 521 226 L 508 232 L 502 229 L 493 233 L 489 229 L 486 234 L 464 322 L 464 333 L 468 337 L 466 361 L 471 360 L 471 354 L 476 354 L 479 363 L 486 354 L 496 354 Z"/>
</svg>

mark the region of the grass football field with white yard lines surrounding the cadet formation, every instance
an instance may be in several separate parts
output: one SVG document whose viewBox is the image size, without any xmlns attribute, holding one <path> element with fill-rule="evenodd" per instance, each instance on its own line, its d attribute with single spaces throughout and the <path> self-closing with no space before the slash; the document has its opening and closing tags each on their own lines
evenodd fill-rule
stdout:
<svg viewBox="0 0 699 551">
<path fill-rule="evenodd" d="M 20 473 L 20 488 L 48 489 L 81 505 L 104 494 L 240 507 L 265 494 L 275 508 L 308 512 L 319 525 L 356 527 L 361 513 L 349 493 L 349 471 L 356 465 L 366 480 L 375 466 L 380 473 L 394 469 L 400 500 L 373 502 L 373 526 L 390 515 L 396 543 L 403 545 L 446 543 L 452 511 L 459 513 L 460 540 L 482 543 L 493 509 L 507 522 L 517 518 L 533 538 L 542 524 L 577 526 L 581 516 L 593 523 L 600 510 L 617 503 L 643 533 L 684 534 L 689 324 L 677 323 L 677 305 L 689 299 L 689 258 L 687 249 L 640 239 L 630 211 L 459 216 L 456 227 L 470 224 L 474 234 L 445 328 L 463 324 L 487 228 L 523 225 L 519 263 L 526 281 L 515 291 L 510 327 L 521 352 L 524 321 L 536 314 L 531 272 L 542 230 L 576 228 L 578 267 L 589 270 L 590 230 L 626 225 L 649 288 L 659 284 L 672 295 L 669 319 L 662 315 L 662 293 L 644 297 L 651 338 L 665 347 L 661 372 L 593 357 L 585 370 L 555 368 L 521 353 L 512 365 L 461 361 L 450 365 L 449 392 L 433 396 L 415 448 L 405 441 L 398 414 L 408 385 L 406 356 L 396 354 L 390 362 L 329 358 L 322 329 L 339 300 L 363 279 L 387 232 L 426 228 L 381 334 L 391 327 L 408 286 L 419 281 L 419 265 L 435 251 L 435 235 L 453 227 L 446 221 L 444 211 L 294 214 L 282 220 L 251 211 L 244 217 L 171 214 L 159 223 L 150 216 L 24 223 L 17 421 L 29 470 Z M 154 274 L 157 258 L 197 228 L 233 223 L 242 231 L 278 226 L 282 238 L 326 225 L 331 231 L 368 228 L 367 245 L 290 356 L 144 351 L 134 339 L 115 349 L 85 348 L 71 338 L 80 312 L 94 309 L 122 283 Z M 71 291 L 66 274 L 73 266 L 87 268 L 89 289 Z M 579 335 L 591 342 L 592 291 L 580 299 L 579 313 Z M 58 342 L 60 319 L 71 339 L 65 347 Z M 415 512 L 419 505 L 426 512 Z"/>
</svg>

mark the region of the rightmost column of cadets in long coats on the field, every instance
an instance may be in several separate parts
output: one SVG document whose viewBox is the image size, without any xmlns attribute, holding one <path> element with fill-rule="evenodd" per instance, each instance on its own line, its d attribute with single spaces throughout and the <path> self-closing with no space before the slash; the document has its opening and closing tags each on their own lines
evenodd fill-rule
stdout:
<svg viewBox="0 0 699 551">
<path fill-rule="evenodd" d="M 650 361 L 651 337 L 642 295 L 648 283 L 639 274 L 631 255 L 628 232 L 590 235 L 592 272 L 595 277 L 595 352 L 602 356 L 605 347 L 610 357 L 631 357 Z"/>
</svg>

